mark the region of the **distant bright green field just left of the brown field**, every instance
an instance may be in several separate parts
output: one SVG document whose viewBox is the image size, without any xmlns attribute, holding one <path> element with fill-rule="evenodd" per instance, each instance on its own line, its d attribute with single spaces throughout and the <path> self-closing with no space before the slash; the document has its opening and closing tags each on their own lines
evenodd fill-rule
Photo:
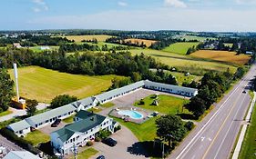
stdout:
<svg viewBox="0 0 256 159">
<path fill-rule="evenodd" d="M 198 43 L 198 42 L 196 42 L 196 43 L 190 43 L 190 42 L 175 43 L 173 45 L 169 45 L 169 47 L 164 48 L 163 51 L 176 53 L 176 54 L 180 54 L 180 55 L 186 55 L 189 50 L 189 47 L 193 47 L 193 46 L 196 47 L 199 44 L 200 43 Z"/>
</svg>

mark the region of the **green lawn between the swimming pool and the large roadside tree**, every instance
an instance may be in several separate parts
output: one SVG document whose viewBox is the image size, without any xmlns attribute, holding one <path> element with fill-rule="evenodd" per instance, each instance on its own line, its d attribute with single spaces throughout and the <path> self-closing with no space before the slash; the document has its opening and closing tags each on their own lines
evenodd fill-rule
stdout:
<svg viewBox="0 0 256 159">
<path fill-rule="evenodd" d="M 136 135 L 138 138 L 138 141 L 143 142 L 143 141 L 152 141 L 155 139 L 157 136 L 157 127 L 155 124 L 155 121 L 157 120 L 158 117 L 150 118 L 148 121 L 146 121 L 143 124 L 135 124 L 131 122 L 124 122 L 122 119 L 114 118 L 119 124 L 122 124 Z"/>
</svg>

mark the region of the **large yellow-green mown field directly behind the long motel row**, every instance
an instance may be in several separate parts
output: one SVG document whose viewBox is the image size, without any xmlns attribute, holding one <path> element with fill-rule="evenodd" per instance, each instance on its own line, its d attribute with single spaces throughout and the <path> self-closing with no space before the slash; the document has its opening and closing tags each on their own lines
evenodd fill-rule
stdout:
<svg viewBox="0 0 256 159">
<path fill-rule="evenodd" d="M 9 74 L 14 79 L 13 70 L 9 70 Z M 78 98 L 100 94 L 108 89 L 111 80 L 117 76 L 70 75 L 38 66 L 18 68 L 18 75 L 20 95 L 46 103 L 50 103 L 58 94 L 76 95 Z"/>
</svg>

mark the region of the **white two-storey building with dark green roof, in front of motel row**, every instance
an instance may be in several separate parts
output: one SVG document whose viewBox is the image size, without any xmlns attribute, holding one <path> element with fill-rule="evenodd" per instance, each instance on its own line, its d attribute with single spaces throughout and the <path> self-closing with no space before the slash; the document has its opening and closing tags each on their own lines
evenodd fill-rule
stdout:
<svg viewBox="0 0 256 159">
<path fill-rule="evenodd" d="M 93 114 L 84 110 L 79 111 L 75 123 L 51 133 L 51 145 L 55 153 L 69 154 L 76 146 L 84 146 L 94 140 L 100 130 L 114 133 L 117 123 L 112 118 Z"/>
</svg>

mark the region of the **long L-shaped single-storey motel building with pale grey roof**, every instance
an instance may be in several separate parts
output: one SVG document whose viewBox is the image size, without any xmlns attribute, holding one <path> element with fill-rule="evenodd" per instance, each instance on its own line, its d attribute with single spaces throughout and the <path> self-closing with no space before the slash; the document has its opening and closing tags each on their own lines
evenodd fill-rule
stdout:
<svg viewBox="0 0 256 159">
<path fill-rule="evenodd" d="M 130 94 L 140 88 L 152 89 L 166 92 L 169 94 L 179 94 L 189 97 L 198 94 L 198 90 L 193 88 L 187 88 L 171 84 L 160 84 L 148 80 L 139 81 L 137 83 L 128 84 L 126 86 L 108 91 L 103 94 L 97 94 L 95 96 L 78 100 L 71 104 L 67 104 L 62 107 L 47 111 L 43 114 L 37 114 L 35 116 L 28 117 L 21 122 L 10 124 L 7 127 L 18 136 L 25 136 L 31 131 L 31 129 L 37 129 L 47 124 L 52 124 L 56 119 L 67 118 L 75 112 L 79 112 L 80 110 L 87 110 L 91 107 L 97 106 L 97 104 L 108 103 L 113 99 L 116 99 L 125 94 Z"/>
</svg>

